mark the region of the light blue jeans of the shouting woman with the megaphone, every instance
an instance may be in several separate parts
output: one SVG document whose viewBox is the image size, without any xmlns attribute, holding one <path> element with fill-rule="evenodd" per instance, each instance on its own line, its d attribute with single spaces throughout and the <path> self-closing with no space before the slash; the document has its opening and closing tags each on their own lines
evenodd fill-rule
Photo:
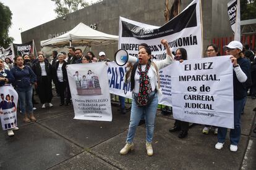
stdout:
<svg viewBox="0 0 256 170">
<path fill-rule="evenodd" d="M 150 95 L 154 95 L 155 92 L 151 92 Z M 146 141 L 151 143 L 153 139 L 154 127 L 155 127 L 155 117 L 156 117 L 156 109 L 158 107 L 158 95 L 157 92 L 153 97 L 153 100 L 146 107 L 138 107 L 135 100 L 132 100 L 132 109 L 130 111 L 130 124 L 129 130 L 127 134 L 127 143 L 132 143 L 135 136 L 136 128 L 140 122 L 140 118 L 142 118 L 143 113 L 145 113 L 145 122 L 147 129 L 147 138 Z"/>
</svg>

